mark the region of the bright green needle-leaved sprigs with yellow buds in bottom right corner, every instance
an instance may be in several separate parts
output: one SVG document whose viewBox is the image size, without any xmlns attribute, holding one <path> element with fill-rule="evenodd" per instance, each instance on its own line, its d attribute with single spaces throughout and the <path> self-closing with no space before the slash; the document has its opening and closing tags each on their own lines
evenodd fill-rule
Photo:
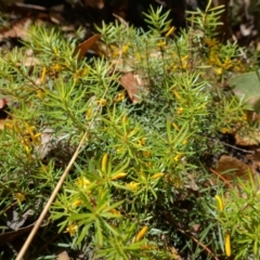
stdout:
<svg viewBox="0 0 260 260">
<path fill-rule="evenodd" d="M 234 259 L 259 259 L 259 191 L 252 176 L 250 174 L 248 183 L 239 180 L 238 188 L 222 197 L 224 210 L 219 211 L 217 218 L 222 235 L 231 236 Z"/>
</svg>

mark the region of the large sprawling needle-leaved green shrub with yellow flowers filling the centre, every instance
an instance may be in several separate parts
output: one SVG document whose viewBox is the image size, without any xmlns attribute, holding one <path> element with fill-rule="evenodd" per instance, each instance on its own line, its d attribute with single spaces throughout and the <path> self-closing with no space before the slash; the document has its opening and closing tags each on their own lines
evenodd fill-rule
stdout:
<svg viewBox="0 0 260 260">
<path fill-rule="evenodd" d="M 232 237 L 235 225 L 222 227 L 211 194 L 222 185 L 208 184 L 200 159 L 246 121 L 243 102 L 219 87 L 245 70 L 236 43 L 214 38 L 221 11 L 190 13 L 180 35 L 160 9 L 145 14 L 148 31 L 104 24 L 95 58 L 77 60 L 77 39 L 39 26 L 3 53 L 0 94 L 13 105 L 1 130 L 1 214 L 16 199 L 37 218 L 87 132 L 50 210 L 61 246 L 86 259 L 224 256 L 223 231 Z M 127 90 L 126 75 L 135 79 Z"/>
</svg>

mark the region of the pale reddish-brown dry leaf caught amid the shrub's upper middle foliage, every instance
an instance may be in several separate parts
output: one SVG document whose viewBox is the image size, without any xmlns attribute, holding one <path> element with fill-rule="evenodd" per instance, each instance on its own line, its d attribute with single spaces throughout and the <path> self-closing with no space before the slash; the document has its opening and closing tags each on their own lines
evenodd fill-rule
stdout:
<svg viewBox="0 0 260 260">
<path fill-rule="evenodd" d="M 119 82 L 127 90 L 132 103 L 140 103 L 142 95 L 147 93 L 147 89 L 142 86 L 142 80 L 139 75 L 126 73 L 121 76 Z"/>
</svg>

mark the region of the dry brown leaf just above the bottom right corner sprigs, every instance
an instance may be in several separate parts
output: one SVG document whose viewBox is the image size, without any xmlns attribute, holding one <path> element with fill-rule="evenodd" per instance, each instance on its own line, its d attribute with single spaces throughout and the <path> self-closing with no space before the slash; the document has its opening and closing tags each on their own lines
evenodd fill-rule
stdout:
<svg viewBox="0 0 260 260">
<path fill-rule="evenodd" d="M 250 168 L 245 162 L 232 156 L 223 155 L 217 164 L 216 171 L 225 180 L 232 181 L 236 178 L 248 179 Z"/>
</svg>

